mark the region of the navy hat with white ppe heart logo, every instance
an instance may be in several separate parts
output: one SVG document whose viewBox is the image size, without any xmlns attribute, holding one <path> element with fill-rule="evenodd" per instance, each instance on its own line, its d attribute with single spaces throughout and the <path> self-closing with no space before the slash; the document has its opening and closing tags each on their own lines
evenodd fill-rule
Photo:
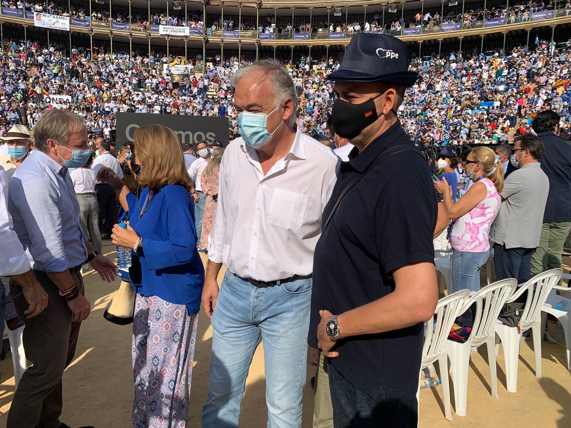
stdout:
<svg viewBox="0 0 571 428">
<path fill-rule="evenodd" d="M 339 70 L 327 79 L 340 82 L 380 82 L 410 87 L 419 74 L 408 71 L 407 44 L 387 34 L 355 34 Z"/>
</svg>

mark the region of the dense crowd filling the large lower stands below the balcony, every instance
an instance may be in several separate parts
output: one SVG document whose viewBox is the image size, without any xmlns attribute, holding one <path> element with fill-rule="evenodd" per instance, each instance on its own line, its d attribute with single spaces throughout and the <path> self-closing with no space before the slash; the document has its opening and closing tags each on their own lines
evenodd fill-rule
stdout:
<svg viewBox="0 0 571 428">
<path fill-rule="evenodd" d="M 399 116 L 405 130 L 423 147 L 509 142 L 529 131 L 537 111 L 551 108 L 561 116 L 560 130 L 568 137 L 571 111 L 568 87 L 571 41 L 556 49 L 536 38 L 531 49 L 510 53 L 455 52 L 445 58 L 413 57 L 411 69 L 420 79 L 407 92 Z M 66 56 L 52 43 L 13 43 L 2 54 L 0 69 L 0 135 L 14 123 L 33 129 L 46 106 L 68 108 L 86 119 L 93 136 L 109 138 L 117 112 L 224 116 L 230 138 L 238 136 L 230 76 L 236 57 L 219 56 L 206 74 L 187 67 L 186 74 L 163 73 L 164 64 L 196 64 L 161 54 L 109 53 L 81 47 Z M 242 64 L 246 64 L 242 61 Z M 302 55 L 289 61 L 300 98 L 299 126 L 308 135 L 328 135 L 325 126 L 335 99 L 326 76 L 338 66 L 333 58 Z M 30 76 L 26 76 L 26 70 Z"/>
</svg>

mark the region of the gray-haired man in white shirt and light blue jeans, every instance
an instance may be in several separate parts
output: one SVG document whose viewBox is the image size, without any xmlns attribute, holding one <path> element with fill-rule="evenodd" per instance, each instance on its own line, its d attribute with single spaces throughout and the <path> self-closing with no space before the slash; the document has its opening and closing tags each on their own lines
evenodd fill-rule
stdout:
<svg viewBox="0 0 571 428">
<path fill-rule="evenodd" d="M 212 360 L 202 426 L 237 427 L 260 340 L 268 427 L 301 426 L 313 251 L 339 159 L 296 126 L 293 81 L 275 60 L 232 76 L 241 138 L 220 165 L 202 302 Z M 216 277 L 228 270 L 219 290 Z"/>
</svg>

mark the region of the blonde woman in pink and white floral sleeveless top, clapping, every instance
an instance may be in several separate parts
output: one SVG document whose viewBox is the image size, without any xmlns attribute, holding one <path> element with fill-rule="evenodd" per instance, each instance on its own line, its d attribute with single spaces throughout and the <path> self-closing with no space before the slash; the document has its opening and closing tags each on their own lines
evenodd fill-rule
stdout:
<svg viewBox="0 0 571 428">
<path fill-rule="evenodd" d="M 480 290 L 480 268 L 490 253 L 490 227 L 498 211 L 504 188 L 504 167 L 488 147 L 474 148 L 465 163 L 465 173 L 474 184 L 456 203 L 448 183 L 435 181 L 444 195 L 448 216 L 456 219 L 452 225 L 452 290 Z"/>
</svg>

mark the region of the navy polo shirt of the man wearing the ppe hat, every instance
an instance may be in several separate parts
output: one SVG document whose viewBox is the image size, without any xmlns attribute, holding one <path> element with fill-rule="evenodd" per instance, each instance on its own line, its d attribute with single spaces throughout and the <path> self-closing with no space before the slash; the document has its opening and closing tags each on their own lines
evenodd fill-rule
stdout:
<svg viewBox="0 0 571 428">
<path fill-rule="evenodd" d="M 411 144 L 397 120 L 359 154 L 341 162 L 323 220 L 341 191 L 383 150 Z M 315 248 L 308 343 L 317 348 L 319 311 L 341 314 L 395 289 L 391 272 L 417 262 L 434 263 L 436 191 L 426 161 L 400 152 L 376 165 L 349 190 Z M 418 278 L 422 281 L 423 278 Z M 342 332 L 341 327 L 341 332 Z M 330 362 L 373 399 L 413 397 L 419 384 L 423 323 L 337 342 Z"/>
</svg>

